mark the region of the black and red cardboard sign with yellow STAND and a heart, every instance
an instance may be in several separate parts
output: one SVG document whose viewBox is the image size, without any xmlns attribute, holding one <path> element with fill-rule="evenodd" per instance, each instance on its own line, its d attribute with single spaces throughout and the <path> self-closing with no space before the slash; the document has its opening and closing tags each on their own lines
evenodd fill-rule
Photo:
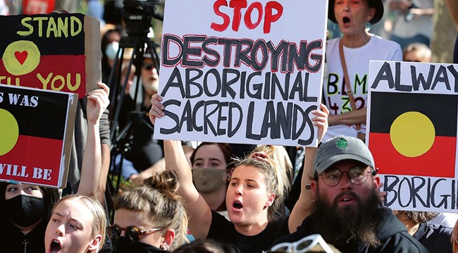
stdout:
<svg viewBox="0 0 458 253">
<path fill-rule="evenodd" d="M 80 13 L 0 16 L 0 83 L 77 93 L 101 80 L 100 25 Z"/>
</svg>

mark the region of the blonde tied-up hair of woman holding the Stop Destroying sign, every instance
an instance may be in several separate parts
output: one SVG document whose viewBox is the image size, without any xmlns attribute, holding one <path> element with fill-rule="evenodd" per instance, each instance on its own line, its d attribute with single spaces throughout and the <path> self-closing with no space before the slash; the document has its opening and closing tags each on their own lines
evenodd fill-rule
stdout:
<svg viewBox="0 0 458 253">
<path fill-rule="evenodd" d="M 252 154 L 256 152 L 264 152 L 268 156 L 267 161 L 256 159 Z M 276 195 L 273 204 L 268 208 L 268 220 L 275 221 L 282 216 L 283 199 L 286 195 L 286 190 L 289 188 L 286 171 L 278 166 L 278 162 L 274 159 L 273 154 L 276 148 L 273 145 L 259 145 L 245 159 L 238 161 L 238 166 L 253 166 L 259 168 L 266 177 L 266 187 L 268 192 Z"/>
</svg>

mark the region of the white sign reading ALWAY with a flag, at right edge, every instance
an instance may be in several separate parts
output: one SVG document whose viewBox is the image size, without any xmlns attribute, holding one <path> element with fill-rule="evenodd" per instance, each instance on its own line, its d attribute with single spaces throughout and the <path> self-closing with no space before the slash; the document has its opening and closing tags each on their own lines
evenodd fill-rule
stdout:
<svg viewBox="0 0 458 253">
<path fill-rule="evenodd" d="M 385 206 L 458 209 L 458 65 L 371 61 L 366 144 Z"/>
</svg>

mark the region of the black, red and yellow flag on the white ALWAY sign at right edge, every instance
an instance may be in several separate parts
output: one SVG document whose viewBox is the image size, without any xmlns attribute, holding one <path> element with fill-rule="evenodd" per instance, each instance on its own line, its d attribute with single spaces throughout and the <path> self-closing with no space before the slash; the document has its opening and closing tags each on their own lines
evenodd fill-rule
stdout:
<svg viewBox="0 0 458 253">
<path fill-rule="evenodd" d="M 454 178 L 457 95 L 371 92 L 370 103 L 379 173 Z"/>
</svg>

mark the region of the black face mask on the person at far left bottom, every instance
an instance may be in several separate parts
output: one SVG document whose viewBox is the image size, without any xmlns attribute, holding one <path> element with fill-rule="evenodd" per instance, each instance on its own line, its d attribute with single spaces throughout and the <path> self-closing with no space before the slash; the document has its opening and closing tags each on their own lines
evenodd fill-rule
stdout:
<svg viewBox="0 0 458 253">
<path fill-rule="evenodd" d="M 21 227 L 32 226 L 44 216 L 44 199 L 18 195 L 5 200 L 6 214 L 11 222 Z"/>
</svg>

